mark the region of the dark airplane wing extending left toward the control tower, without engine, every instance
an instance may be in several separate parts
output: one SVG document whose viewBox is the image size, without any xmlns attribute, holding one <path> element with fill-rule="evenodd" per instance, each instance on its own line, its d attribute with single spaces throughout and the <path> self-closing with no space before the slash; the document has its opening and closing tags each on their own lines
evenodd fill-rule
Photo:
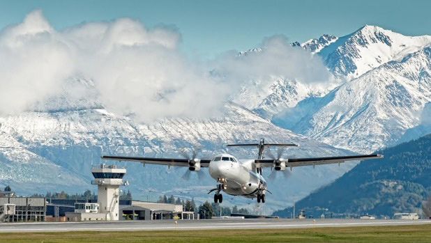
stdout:
<svg viewBox="0 0 431 243">
<path fill-rule="evenodd" d="M 169 159 L 169 158 L 151 158 L 151 157 L 127 157 L 127 156 L 102 156 L 102 159 L 133 161 L 142 164 L 160 164 L 165 166 L 184 166 L 188 167 L 188 159 Z M 211 159 L 200 159 L 201 167 L 208 167 Z"/>
</svg>

